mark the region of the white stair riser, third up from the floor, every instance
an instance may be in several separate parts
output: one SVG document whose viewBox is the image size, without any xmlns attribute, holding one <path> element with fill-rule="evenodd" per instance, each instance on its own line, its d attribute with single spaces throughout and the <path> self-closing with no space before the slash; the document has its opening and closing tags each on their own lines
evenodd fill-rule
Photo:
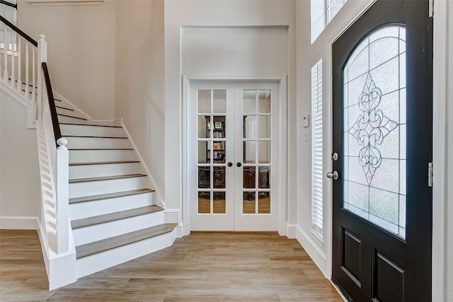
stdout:
<svg viewBox="0 0 453 302">
<path fill-rule="evenodd" d="M 71 220 L 84 219 L 91 216 L 110 214 L 115 211 L 126 211 L 154 204 L 154 192 L 134 194 L 123 197 L 93 200 L 69 204 Z"/>
</svg>

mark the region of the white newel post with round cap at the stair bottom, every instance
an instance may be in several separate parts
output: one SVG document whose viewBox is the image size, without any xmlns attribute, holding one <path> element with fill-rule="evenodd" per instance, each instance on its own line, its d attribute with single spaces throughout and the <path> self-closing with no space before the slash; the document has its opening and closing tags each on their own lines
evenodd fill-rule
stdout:
<svg viewBox="0 0 453 302">
<path fill-rule="evenodd" d="M 67 139 L 57 140 L 57 253 L 69 251 L 69 151 Z"/>
</svg>

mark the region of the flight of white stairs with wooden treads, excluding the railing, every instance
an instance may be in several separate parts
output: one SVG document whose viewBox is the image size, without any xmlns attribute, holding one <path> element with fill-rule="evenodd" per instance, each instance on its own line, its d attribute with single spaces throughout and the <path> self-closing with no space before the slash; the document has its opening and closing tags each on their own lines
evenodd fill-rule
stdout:
<svg viewBox="0 0 453 302">
<path fill-rule="evenodd" d="M 69 218 L 77 278 L 170 246 L 176 223 L 164 209 L 122 127 L 90 124 L 56 100 L 69 149 Z"/>
</svg>

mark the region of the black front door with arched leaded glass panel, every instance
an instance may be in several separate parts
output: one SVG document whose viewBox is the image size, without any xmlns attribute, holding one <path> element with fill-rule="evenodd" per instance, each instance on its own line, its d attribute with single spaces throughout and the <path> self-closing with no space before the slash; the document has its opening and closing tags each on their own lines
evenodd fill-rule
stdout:
<svg viewBox="0 0 453 302">
<path fill-rule="evenodd" d="M 431 301 L 428 1 L 378 0 L 332 52 L 333 281 L 353 301 Z"/>
</svg>

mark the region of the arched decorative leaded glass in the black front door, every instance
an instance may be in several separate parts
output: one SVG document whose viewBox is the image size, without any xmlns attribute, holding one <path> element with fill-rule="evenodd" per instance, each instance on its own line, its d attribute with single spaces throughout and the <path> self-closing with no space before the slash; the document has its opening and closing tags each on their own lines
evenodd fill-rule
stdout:
<svg viewBox="0 0 453 302">
<path fill-rule="evenodd" d="M 343 207 L 406 237 L 406 29 L 388 25 L 343 70 Z"/>
</svg>

